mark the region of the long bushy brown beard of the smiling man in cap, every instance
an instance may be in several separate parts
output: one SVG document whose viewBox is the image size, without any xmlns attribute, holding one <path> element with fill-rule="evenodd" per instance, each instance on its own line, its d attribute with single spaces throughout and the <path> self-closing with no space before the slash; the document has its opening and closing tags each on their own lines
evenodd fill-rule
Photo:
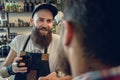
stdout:
<svg viewBox="0 0 120 80">
<path fill-rule="evenodd" d="M 40 30 L 45 29 L 48 31 L 47 35 L 42 35 Z M 47 48 L 52 41 L 52 31 L 46 27 L 37 28 L 33 26 L 31 39 L 33 44 L 38 48 Z"/>
</svg>

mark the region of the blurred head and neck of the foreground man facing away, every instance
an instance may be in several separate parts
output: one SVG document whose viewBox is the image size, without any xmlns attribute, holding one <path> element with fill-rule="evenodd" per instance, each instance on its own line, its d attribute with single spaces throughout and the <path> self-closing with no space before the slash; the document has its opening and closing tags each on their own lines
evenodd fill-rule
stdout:
<svg viewBox="0 0 120 80">
<path fill-rule="evenodd" d="M 61 38 L 63 49 L 59 54 L 65 52 L 64 58 L 71 67 L 69 72 L 82 74 L 120 65 L 117 3 L 119 1 L 66 0 Z"/>
</svg>

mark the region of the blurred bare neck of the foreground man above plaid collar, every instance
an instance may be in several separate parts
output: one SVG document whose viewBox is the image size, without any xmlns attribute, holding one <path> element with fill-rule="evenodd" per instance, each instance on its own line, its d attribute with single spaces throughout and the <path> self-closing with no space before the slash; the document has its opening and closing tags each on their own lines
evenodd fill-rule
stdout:
<svg viewBox="0 0 120 80">
<path fill-rule="evenodd" d="M 82 75 L 84 73 L 90 72 L 90 71 L 96 71 L 96 70 L 103 70 L 110 68 L 102 63 L 100 63 L 97 60 L 91 60 L 82 56 L 82 50 L 77 50 L 77 48 L 72 50 L 69 55 L 69 62 L 71 65 L 71 71 L 72 71 L 72 77 L 76 77 L 79 75 Z"/>
</svg>

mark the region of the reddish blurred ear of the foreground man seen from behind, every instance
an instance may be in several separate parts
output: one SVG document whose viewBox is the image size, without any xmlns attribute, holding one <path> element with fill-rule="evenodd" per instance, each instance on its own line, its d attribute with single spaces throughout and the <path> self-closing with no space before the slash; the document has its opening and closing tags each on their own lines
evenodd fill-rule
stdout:
<svg viewBox="0 0 120 80">
<path fill-rule="evenodd" d="M 73 39 L 73 28 L 70 22 L 65 21 L 65 27 L 66 27 L 66 37 L 65 37 L 65 45 L 69 46 L 71 44 L 71 41 Z"/>
</svg>

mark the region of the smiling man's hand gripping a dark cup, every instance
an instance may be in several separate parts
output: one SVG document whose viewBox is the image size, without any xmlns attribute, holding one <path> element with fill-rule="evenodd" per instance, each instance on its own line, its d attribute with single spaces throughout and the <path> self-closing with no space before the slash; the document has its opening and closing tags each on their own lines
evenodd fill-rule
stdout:
<svg viewBox="0 0 120 80">
<path fill-rule="evenodd" d="M 17 61 L 20 61 L 20 60 L 22 60 L 21 57 L 16 57 L 16 58 L 14 59 L 14 62 L 13 62 L 13 64 L 12 64 L 12 69 L 13 69 L 13 72 L 14 72 L 14 73 L 18 73 L 18 72 L 24 73 L 24 72 L 27 72 L 27 67 L 24 67 L 24 66 L 25 66 L 25 63 L 20 62 L 20 63 L 19 63 L 19 66 L 21 66 L 21 67 L 18 67 Z"/>
</svg>

